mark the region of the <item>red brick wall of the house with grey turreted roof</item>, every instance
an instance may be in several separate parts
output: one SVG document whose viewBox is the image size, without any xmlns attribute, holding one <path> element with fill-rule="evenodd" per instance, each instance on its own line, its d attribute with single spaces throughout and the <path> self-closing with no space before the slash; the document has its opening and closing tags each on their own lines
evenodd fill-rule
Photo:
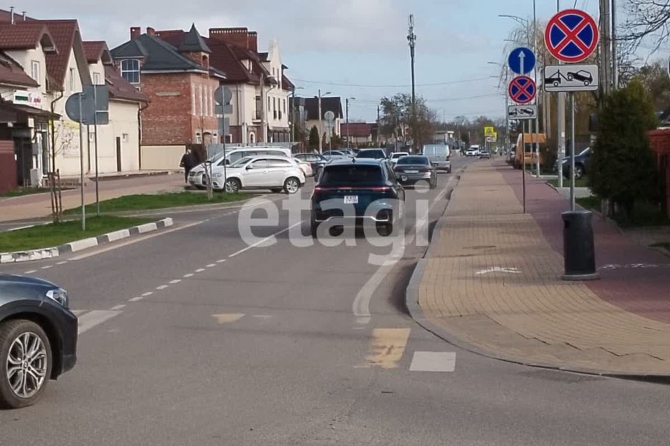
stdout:
<svg viewBox="0 0 670 446">
<path fill-rule="evenodd" d="M 218 125 L 210 95 L 205 95 L 204 116 L 200 113 L 202 90 L 218 87 L 218 80 L 196 73 L 143 74 L 142 92 L 149 95 L 149 107 L 142 112 L 142 145 L 181 145 L 195 142 L 195 133 L 216 132 Z M 200 92 L 195 98 L 193 89 Z"/>
</svg>

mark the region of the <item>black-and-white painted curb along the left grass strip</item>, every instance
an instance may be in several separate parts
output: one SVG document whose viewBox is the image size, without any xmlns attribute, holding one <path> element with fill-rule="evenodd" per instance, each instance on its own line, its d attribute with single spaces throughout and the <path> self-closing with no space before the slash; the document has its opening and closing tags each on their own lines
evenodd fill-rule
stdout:
<svg viewBox="0 0 670 446">
<path fill-rule="evenodd" d="M 19 263 L 33 260 L 52 259 L 54 257 L 60 256 L 61 254 L 77 252 L 81 251 L 82 249 L 88 249 L 98 245 L 105 245 L 107 243 L 112 243 L 117 240 L 122 240 L 124 238 L 138 234 L 167 228 L 173 224 L 174 222 L 172 221 L 172 218 L 168 217 L 164 218 L 163 220 L 158 220 L 158 222 L 140 224 L 138 226 L 133 226 L 128 229 L 120 229 L 119 231 L 113 231 L 97 237 L 75 240 L 74 242 L 66 243 L 65 245 L 56 247 L 30 249 L 27 251 L 3 252 L 0 254 L 0 263 Z"/>
</svg>

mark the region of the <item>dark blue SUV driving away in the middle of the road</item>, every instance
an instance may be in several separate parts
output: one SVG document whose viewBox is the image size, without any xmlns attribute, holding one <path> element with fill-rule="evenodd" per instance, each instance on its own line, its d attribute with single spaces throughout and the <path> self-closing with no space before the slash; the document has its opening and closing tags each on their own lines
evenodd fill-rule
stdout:
<svg viewBox="0 0 670 446">
<path fill-rule="evenodd" d="M 312 236 L 325 222 L 331 228 L 375 224 L 382 236 L 389 236 L 404 201 L 405 190 L 388 162 L 334 160 L 325 165 L 312 193 Z"/>
</svg>

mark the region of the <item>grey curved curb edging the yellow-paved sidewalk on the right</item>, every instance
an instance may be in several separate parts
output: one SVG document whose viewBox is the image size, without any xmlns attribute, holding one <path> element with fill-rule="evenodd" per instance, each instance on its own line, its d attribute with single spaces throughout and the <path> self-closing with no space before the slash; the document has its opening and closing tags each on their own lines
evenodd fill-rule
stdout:
<svg viewBox="0 0 670 446">
<path fill-rule="evenodd" d="M 454 188 L 452 194 L 454 193 L 456 193 L 456 188 Z M 430 332 L 431 334 L 434 334 L 435 337 L 438 337 L 443 341 L 446 341 L 448 344 L 452 344 L 453 346 L 463 349 L 464 351 L 474 353 L 475 355 L 488 357 L 493 360 L 500 360 L 503 362 L 525 365 L 528 367 L 535 367 L 539 369 L 566 371 L 566 372 L 593 375 L 593 376 L 604 376 L 609 378 L 650 380 L 661 383 L 670 383 L 670 374 L 632 374 L 632 373 L 626 374 L 607 370 L 571 367 L 567 364 L 556 365 L 542 362 L 529 362 L 528 360 L 523 360 L 523 358 L 514 357 L 512 355 L 501 355 L 488 350 L 484 350 L 483 348 L 479 348 L 478 346 L 468 344 L 466 341 L 462 341 L 458 337 L 454 336 L 454 334 L 449 332 L 449 330 L 447 330 L 446 328 L 437 325 L 436 323 L 433 323 L 433 321 L 431 321 L 431 319 L 426 316 L 421 305 L 419 305 L 419 290 L 421 289 L 421 283 L 424 278 L 424 272 L 429 262 L 429 258 L 436 249 L 433 247 L 433 245 L 436 245 L 435 242 L 439 240 L 440 234 L 442 232 L 441 229 L 445 226 L 445 224 L 446 222 L 444 220 L 444 215 L 442 215 L 438 223 L 435 224 L 435 229 L 433 230 L 433 238 L 429 245 L 429 249 L 426 251 L 426 255 L 424 256 L 424 258 L 419 259 L 419 261 L 417 262 L 417 266 L 415 267 L 415 270 L 414 272 L 412 272 L 412 276 L 410 277 L 410 282 L 408 283 L 408 286 L 405 289 L 405 307 L 407 307 L 412 320 L 414 320 L 420 327 L 424 328 L 424 330 Z"/>
</svg>

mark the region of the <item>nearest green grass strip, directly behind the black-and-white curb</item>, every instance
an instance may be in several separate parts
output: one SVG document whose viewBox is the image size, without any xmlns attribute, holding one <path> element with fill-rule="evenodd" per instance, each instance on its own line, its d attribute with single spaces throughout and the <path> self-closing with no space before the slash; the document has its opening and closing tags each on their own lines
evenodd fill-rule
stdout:
<svg viewBox="0 0 670 446">
<path fill-rule="evenodd" d="M 17 231 L 0 232 L 0 252 L 40 249 L 70 243 L 82 238 L 101 236 L 104 233 L 127 229 L 137 224 L 154 222 L 156 219 L 139 217 L 91 217 L 86 220 L 86 231 L 82 231 L 80 220 L 50 223 Z"/>
</svg>

